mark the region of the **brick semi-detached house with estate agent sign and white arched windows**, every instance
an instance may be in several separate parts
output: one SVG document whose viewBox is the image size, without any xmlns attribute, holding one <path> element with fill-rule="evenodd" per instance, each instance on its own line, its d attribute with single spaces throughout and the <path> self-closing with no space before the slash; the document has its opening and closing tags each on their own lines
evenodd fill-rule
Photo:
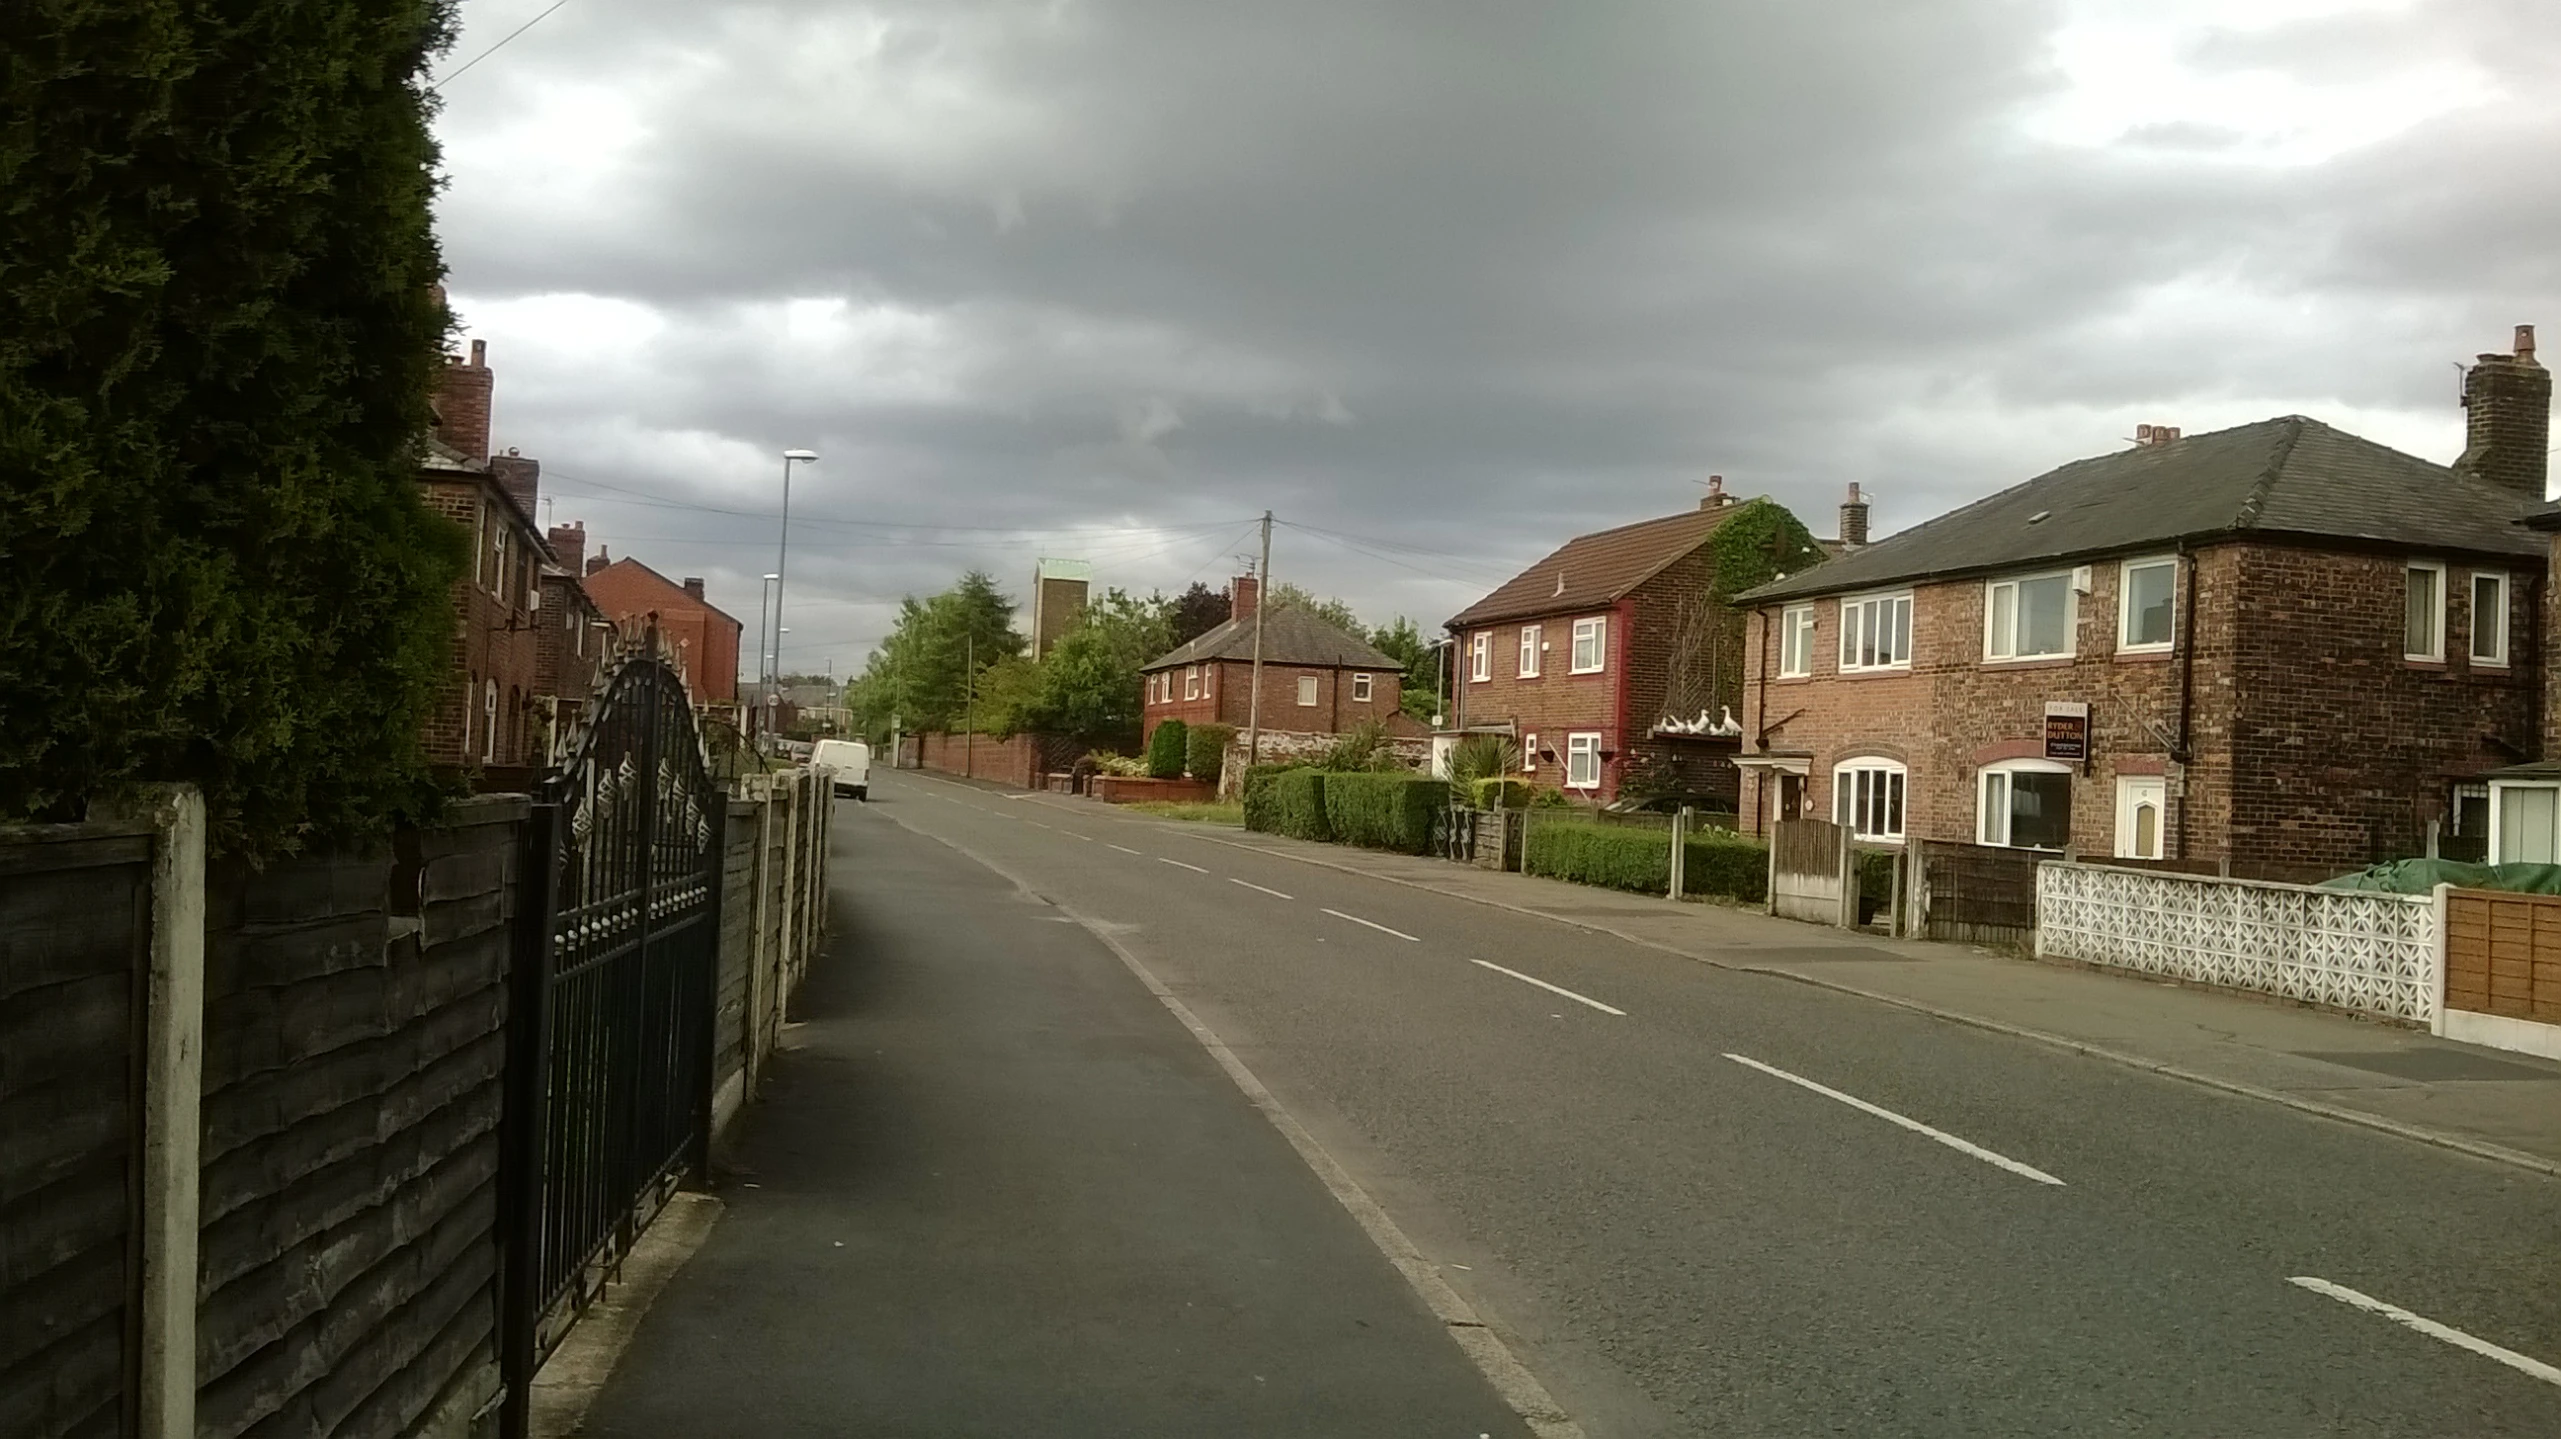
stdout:
<svg viewBox="0 0 2561 1439">
<path fill-rule="evenodd" d="M 2533 335 L 2430 463 L 2300 415 L 2141 428 L 1741 597 L 1744 827 L 2226 860 L 2415 855 L 2538 753 Z"/>
</svg>

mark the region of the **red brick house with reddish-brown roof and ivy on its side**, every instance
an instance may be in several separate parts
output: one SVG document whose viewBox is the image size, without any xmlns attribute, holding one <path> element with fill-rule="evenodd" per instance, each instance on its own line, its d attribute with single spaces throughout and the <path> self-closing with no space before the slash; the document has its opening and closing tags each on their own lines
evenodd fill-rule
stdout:
<svg viewBox="0 0 2561 1439">
<path fill-rule="evenodd" d="M 1731 809 L 1741 627 L 1708 540 L 1741 510 L 1711 479 L 1698 510 L 1578 535 L 1457 612 L 1450 727 L 1511 735 L 1544 789 Z"/>
</svg>

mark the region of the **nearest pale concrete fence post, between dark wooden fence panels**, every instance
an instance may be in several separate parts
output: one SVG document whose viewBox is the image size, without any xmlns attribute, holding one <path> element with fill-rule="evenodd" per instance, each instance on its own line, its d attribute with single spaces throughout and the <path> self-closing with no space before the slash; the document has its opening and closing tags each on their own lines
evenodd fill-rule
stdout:
<svg viewBox="0 0 2561 1439">
<path fill-rule="evenodd" d="M 141 1434 L 195 1439 L 197 1180 L 205 1101 L 205 796 L 149 786 L 151 978 L 143 1009 Z"/>
</svg>

